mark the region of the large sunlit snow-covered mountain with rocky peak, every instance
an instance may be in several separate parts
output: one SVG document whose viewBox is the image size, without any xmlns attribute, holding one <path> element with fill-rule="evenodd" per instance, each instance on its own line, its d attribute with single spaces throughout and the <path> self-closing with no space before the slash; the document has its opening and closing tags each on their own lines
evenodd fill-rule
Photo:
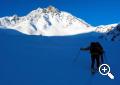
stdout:
<svg viewBox="0 0 120 85">
<path fill-rule="evenodd" d="M 43 36 L 75 35 L 94 30 L 85 21 L 52 6 L 38 8 L 23 17 L 14 15 L 0 18 L 0 28 Z"/>
</svg>

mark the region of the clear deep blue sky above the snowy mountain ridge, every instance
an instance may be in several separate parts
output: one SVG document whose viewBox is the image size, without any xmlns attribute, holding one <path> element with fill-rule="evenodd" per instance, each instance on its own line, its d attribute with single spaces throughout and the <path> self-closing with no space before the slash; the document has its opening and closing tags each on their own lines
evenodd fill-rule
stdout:
<svg viewBox="0 0 120 85">
<path fill-rule="evenodd" d="M 120 0 L 0 0 L 0 17 L 23 16 L 49 5 L 70 12 L 93 26 L 120 21 Z"/>
</svg>

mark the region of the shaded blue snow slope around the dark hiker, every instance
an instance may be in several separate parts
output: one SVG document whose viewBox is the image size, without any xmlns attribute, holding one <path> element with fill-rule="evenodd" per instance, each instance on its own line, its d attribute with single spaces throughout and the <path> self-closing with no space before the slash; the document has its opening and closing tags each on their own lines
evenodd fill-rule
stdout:
<svg viewBox="0 0 120 85">
<path fill-rule="evenodd" d="M 45 37 L 11 35 L 0 30 L 0 85 L 118 85 L 120 83 L 119 42 L 98 40 L 96 33 Z M 4 36 L 3 36 L 4 35 Z M 105 63 L 115 80 L 90 73 L 89 52 L 80 51 L 91 41 L 100 41 Z M 74 58 L 79 56 L 76 62 Z"/>
</svg>

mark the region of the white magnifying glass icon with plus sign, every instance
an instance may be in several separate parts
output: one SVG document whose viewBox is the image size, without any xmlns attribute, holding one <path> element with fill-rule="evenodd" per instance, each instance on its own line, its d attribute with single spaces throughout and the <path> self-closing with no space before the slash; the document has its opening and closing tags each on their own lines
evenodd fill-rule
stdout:
<svg viewBox="0 0 120 85">
<path fill-rule="evenodd" d="M 114 76 L 112 73 L 110 73 L 110 67 L 108 64 L 102 64 L 99 67 L 99 72 L 102 75 L 107 75 L 108 77 L 110 77 L 110 79 L 114 79 Z"/>
</svg>

